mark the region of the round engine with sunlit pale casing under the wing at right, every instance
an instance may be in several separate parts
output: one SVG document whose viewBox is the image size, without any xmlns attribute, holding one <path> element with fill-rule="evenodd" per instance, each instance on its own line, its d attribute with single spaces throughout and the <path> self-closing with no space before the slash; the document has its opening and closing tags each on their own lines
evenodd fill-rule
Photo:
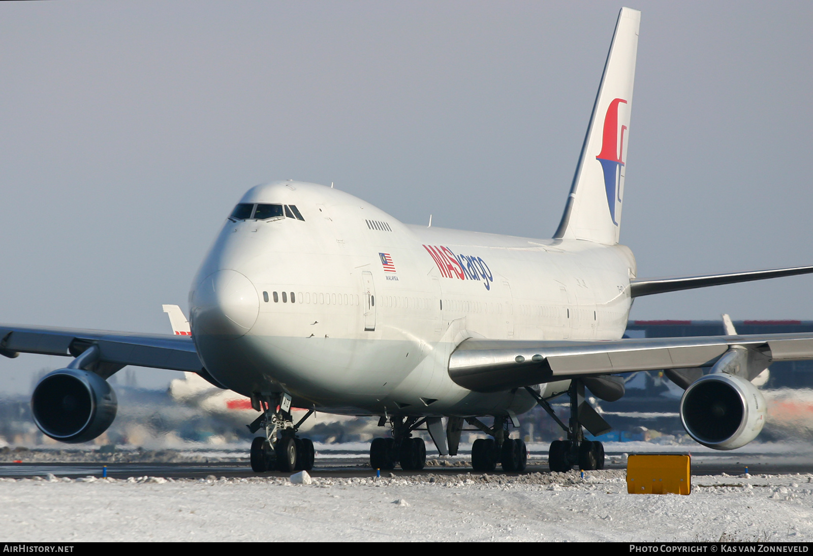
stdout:
<svg viewBox="0 0 813 556">
<path fill-rule="evenodd" d="M 757 387 L 732 374 L 694 381 L 680 398 L 680 421 L 694 440 L 732 450 L 754 440 L 765 424 L 766 405 Z"/>
</svg>

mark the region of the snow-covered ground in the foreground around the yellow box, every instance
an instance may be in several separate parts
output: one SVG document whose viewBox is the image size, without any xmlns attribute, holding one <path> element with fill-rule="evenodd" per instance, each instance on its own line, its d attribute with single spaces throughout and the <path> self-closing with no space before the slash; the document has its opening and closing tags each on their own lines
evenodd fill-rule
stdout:
<svg viewBox="0 0 813 556">
<path fill-rule="evenodd" d="M 811 541 L 813 475 L 0 479 L 0 541 Z"/>
</svg>

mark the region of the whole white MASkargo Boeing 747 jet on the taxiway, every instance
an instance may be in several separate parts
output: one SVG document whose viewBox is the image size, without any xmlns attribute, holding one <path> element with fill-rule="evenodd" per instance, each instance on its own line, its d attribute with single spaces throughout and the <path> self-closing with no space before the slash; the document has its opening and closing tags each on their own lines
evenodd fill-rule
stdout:
<svg viewBox="0 0 813 556">
<path fill-rule="evenodd" d="M 37 427 L 63 442 L 102 434 L 116 412 L 107 378 L 136 365 L 194 372 L 249 397 L 259 411 L 250 429 L 262 431 L 255 471 L 313 466 L 313 444 L 297 432 L 313 411 L 389 426 L 372 441 L 373 467 L 422 468 L 424 441 L 411 433 L 423 427 L 441 454 L 457 453 L 467 426 L 489 436 L 472 447 L 476 471 L 523 471 L 525 445 L 511 427 L 537 404 L 567 432 L 550 446 L 550 468 L 596 469 L 602 444 L 583 430 L 609 425 L 585 387 L 613 401 L 624 395 L 618 374 L 663 369 L 685 388 L 680 415 L 694 440 L 715 449 L 753 440 L 765 402 L 751 380 L 772 361 L 813 358 L 813 334 L 622 339 L 630 307 L 637 296 L 813 266 L 637 278 L 619 230 L 639 20 L 620 12 L 552 239 L 405 225 L 312 183 L 256 186 L 193 280 L 189 334 L 0 326 L 2 355 L 73 357 L 34 390 Z M 548 405 L 565 394 L 567 423 Z M 293 422 L 292 405 L 311 411 Z"/>
</svg>

